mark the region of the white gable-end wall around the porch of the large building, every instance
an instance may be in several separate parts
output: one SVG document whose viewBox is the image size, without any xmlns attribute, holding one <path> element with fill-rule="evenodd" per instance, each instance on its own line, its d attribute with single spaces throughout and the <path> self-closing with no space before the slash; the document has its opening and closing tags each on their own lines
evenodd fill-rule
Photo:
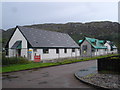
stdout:
<svg viewBox="0 0 120 90">
<path fill-rule="evenodd" d="M 9 41 L 9 49 L 14 45 L 14 43 L 18 40 L 22 41 L 22 49 L 21 49 L 21 56 L 27 57 L 27 40 L 25 37 L 22 35 L 22 33 L 19 31 L 17 28 L 16 31 L 14 32 L 14 35 Z M 13 49 L 9 50 L 9 57 L 16 56 L 16 53 L 13 52 Z"/>
</svg>

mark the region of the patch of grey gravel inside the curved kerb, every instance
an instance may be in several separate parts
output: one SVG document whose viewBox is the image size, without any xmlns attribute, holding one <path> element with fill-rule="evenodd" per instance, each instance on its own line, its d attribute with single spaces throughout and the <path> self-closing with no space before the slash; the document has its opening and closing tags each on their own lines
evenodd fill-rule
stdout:
<svg viewBox="0 0 120 90">
<path fill-rule="evenodd" d="M 96 73 L 87 75 L 82 79 L 104 88 L 120 88 L 120 75 Z"/>
</svg>

